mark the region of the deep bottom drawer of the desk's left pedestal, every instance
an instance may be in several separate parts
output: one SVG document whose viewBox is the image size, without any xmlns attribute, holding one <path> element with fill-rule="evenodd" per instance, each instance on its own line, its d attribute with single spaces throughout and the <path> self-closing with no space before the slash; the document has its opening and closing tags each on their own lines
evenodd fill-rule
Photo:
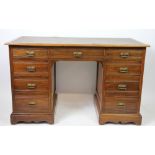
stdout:
<svg viewBox="0 0 155 155">
<path fill-rule="evenodd" d="M 43 113 L 51 109 L 48 97 L 18 96 L 15 97 L 13 110 L 18 113 Z"/>
</svg>

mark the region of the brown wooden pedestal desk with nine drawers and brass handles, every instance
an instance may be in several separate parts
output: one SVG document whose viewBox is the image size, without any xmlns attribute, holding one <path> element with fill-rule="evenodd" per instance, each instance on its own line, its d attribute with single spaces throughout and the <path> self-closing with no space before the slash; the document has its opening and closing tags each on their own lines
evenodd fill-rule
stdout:
<svg viewBox="0 0 155 155">
<path fill-rule="evenodd" d="M 11 123 L 54 123 L 56 61 L 96 61 L 99 123 L 141 124 L 146 47 L 129 38 L 20 37 L 10 52 Z"/>
</svg>

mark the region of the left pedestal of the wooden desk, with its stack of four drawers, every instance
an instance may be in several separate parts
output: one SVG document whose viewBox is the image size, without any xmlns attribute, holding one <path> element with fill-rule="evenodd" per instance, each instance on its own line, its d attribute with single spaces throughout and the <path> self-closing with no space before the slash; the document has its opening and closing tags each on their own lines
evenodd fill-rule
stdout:
<svg viewBox="0 0 155 155">
<path fill-rule="evenodd" d="M 46 47 L 10 46 L 11 123 L 54 123 L 54 62 Z"/>
</svg>

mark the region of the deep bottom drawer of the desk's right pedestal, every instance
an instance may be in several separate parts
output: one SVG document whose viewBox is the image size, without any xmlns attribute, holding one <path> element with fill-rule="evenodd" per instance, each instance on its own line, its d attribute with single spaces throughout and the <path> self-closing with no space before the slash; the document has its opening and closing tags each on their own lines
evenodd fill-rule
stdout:
<svg viewBox="0 0 155 155">
<path fill-rule="evenodd" d="M 105 98 L 103 111 L 105 113 L 130 114 L 137 113 L 138 98 Z"/>
</svg>

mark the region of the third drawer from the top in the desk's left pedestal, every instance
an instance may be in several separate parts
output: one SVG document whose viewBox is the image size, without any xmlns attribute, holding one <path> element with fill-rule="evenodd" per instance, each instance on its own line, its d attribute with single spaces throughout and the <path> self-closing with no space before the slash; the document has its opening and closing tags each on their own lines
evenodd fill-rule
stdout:
<svg viewBox="0 0 155 155">
<path fill-rule="evenodd" d="M 15 91 L 48 91 L 48 80 L 46 79 L 14 79 Z"/>
</svg>

